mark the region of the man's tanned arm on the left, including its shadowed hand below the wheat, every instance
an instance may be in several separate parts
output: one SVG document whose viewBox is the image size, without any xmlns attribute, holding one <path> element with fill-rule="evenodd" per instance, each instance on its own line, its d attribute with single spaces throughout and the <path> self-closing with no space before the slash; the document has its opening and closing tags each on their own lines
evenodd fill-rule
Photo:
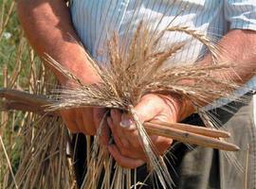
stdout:
<svg viewBox="0 0 256 189">
<path fill-rule="evenodd" d="M 83 83 L 99 82 L 85 50 L 79 44 L 79 36 L 72 26 L 64 1 L 18 0 L 17 10 L 27 39 L 39 56 L 48 54 Z M 64 87 L 72 87 L 73 84 L 58 70 L 50 68 Z M 62 111 L 61 115 L 71 131 L 94 135 L 103 112 L 101 109 L 83 108 Z"/>
</svg>

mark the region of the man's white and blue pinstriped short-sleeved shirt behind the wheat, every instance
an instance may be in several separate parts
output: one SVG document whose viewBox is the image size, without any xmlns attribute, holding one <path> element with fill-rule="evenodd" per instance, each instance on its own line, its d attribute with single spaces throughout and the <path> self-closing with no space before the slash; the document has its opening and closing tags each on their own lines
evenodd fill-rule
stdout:
<svg viewBox="0 0 256 189">
<path fill-rule="evenodd" d="M 127 28 L 132 35 L 141 20 L 161 30 L 175 17 L 172 26 L 189 26 L 214 42 L 229 29 L 256 30 L 256 0 L 73 0 L 71 15 L 86 50 L 99 62 L 106 60 L 106 40 L 113 32 L 125 39 Z M 192 63 L 205 53 L 202 43 L 184 33 L 166 33 L 163 42 L 188 43 L 172 63 Z M 256 77 L 247 84 L 256 88 Z"/>
</svg>

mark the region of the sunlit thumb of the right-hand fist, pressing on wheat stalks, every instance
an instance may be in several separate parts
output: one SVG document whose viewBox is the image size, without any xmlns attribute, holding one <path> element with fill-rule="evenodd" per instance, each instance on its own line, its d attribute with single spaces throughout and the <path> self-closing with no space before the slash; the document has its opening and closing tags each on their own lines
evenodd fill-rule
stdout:
<svg viewBox="0 0 256 189">
<path fill-rule="evenodd" d="M 138 120 L 141 123 L 150 121 L 161 112 L 162 99 L 155 94 L 144 95 L 135 107 Z M 121 116 L 120 126 L 124 129 L 136 129 L 131 114 L 123 113 Z"/>
</svg>

